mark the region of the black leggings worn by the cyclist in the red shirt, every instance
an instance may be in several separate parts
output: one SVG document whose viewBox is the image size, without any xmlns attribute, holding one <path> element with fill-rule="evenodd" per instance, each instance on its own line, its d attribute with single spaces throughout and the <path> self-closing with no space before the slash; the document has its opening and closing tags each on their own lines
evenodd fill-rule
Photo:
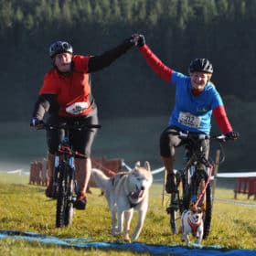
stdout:
<svg viewBox="0 0 256 256">
<path fill-rule="evenodd" d="M 97 110 L 93 111 L 93 114 L 90 116 L 82 117 L 51 117 L 48 120 L 49 124 L 56 125 L 58 123 L 68 123 L 73 125 L 74 123 L 81 124 L 99 124 Z M 69 131 L 70 145 L 74 151 L 79 152 L 85 157 L 90 157 L 91 155 L 91 145 L 93 144 L 95 135 L 97 133 L 97 128 L 88 128 L 83 127 L 81 130 Z M 55 155 L 58 151 L 60 143 L 60 131 L 59 130 L 47 130 L 47 143 L 48 143 L 48 152 L 52 155 Z M 76 156 L 79 157 L 79 156 Z"/>
</svg>

